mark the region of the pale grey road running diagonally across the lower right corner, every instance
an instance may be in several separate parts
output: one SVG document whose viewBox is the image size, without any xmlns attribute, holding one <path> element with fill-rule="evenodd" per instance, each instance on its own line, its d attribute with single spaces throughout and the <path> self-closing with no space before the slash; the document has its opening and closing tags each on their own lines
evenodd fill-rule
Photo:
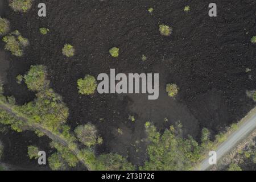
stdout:
<svg viewBox="0 0 256 182">
<path fill-rule="evenodd" d="M 247 137 L 247 135 L 252 133 L 255 129 L 256 114 L 247 118 L 246 121 L 236 131 L 229 135 L 225 142 L 221 143 L 220 146 L 217 147 L 217 160 L 221 159 L 225 154 L 232 150 L 232 148 L 235 147 L 243 138 Z M 210 167 L 208 160 L 209 158 L 203 160 L 197 170 L 207 170 Z"/>
</svg>

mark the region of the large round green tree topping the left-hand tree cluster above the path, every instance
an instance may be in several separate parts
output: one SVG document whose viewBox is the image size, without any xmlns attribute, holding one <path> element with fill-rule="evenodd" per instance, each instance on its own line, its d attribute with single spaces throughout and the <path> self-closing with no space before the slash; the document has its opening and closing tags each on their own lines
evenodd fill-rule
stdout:
<svg viewBox="0 0 256 182">
<path fill-rule="evenodd" d="M 46 67 L 43 65 L 32 65 L 27 75 L 24 75 L 27 88 L 32 91 L 40 91 L 48 86 L 46 81 Z"/>
</svg>

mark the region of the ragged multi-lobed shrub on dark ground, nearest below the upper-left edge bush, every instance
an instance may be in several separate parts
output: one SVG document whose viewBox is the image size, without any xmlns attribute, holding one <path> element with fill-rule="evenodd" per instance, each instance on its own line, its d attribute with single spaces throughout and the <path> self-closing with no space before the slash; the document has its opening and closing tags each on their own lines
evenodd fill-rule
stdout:
<svg viewBox="0 0 256 182">
<path fill-rule="evenodd" d="M 5 36 L 3 38 L 3 42 L 5 42 L 5 49 L 10 51 L 14 56 L 22 56 L 23 55 L 23 48 L 27 47 L 29 42 L 26 38 L 23 38 L 19 31 L 16 30 L 11 32 L 10 35 Z"/>
</svg>

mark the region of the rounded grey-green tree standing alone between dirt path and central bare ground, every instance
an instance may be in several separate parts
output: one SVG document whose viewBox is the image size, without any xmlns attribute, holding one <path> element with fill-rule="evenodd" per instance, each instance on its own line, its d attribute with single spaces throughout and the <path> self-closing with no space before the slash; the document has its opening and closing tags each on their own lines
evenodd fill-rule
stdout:
<svg viewBox="0 0 256 182">
<path fill-rule="evenodd" d="M 75 129 L 75 133 L 77 135 L 77 138 L 79 138 L 79 141 L 85 146 L 91 147 L 96 144 L 102 143 L 102 138 L 98 137 L 97 135 L 96 127 L 91 123 L 77 126 Z"/>
</svg>

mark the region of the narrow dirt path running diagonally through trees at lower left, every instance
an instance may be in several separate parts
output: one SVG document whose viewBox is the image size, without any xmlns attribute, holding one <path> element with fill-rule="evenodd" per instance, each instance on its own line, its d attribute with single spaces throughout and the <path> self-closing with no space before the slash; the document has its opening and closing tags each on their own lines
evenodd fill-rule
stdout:
<svg viewBox="0 0 256 182">
<path fill-rule="evenodd" d="M 3 103 L 2 101 L 0 101 L 0 109 L 1 110 L 5 110 L 7 113 L 13 115 L 15 118 L 19 119 L 20 121 L 23 121 L 25 123 L 28 124 L 28 126 L 32 127 L 33 129 L 36 129 L 36 130 L 39 130 L 41 131 L 42 133 L 46 134 L 47 137 L 51 138 L 52 140 L 54 140 L 55 142 L 59 142 L 61 144 L 63 144 L 63 146 L 66 146 L 69 148 L 69 150 L 77 156 L 77 159 L 79 159 L 79 161 L 84 164 L 86 166 L 86 168 L 90 171 L 90 167 L 88 166 L 88 164 L 85 163 L 84 160 L 82 160 L 80 157 L 79 157 L 79 152 L 80 150 L 78 148 L 75 148 L 72 149 L 70 146 L 71 143 L 69 143 L 67 140 L 61 138 L 59 135 L 56 135 L 56 134 L 53 134 L 51 131 L 47 130 L 47 129 L 44 129 L 44 127 L 42 127 L 41 125 L 39 124 L 35 124 L 35 123 L 32 123 L 30 122 L 30 119 L 29 118 L 26 118 L 24 115 L 16 112 L 10 105 L 7 105 L 5 103 Z M 31 124 L 32 123 L 32 124 Z"/>
</svg>

